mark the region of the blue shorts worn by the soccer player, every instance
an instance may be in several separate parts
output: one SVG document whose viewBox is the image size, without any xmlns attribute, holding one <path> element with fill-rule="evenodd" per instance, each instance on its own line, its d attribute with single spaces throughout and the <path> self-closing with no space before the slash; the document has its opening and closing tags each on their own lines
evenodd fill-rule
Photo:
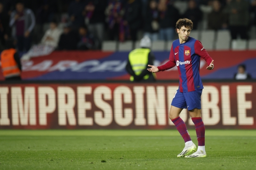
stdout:
<svg viewBox="0 0 256 170">
<path fill-rule="evenodd" d="M 202 91 L 203 89 L 182 93 L 178 89 L 171 102 L 171 106 L 187 108 L 188 110 L 193 110 L 194 108 L 201 109 Z"/>
</svg>

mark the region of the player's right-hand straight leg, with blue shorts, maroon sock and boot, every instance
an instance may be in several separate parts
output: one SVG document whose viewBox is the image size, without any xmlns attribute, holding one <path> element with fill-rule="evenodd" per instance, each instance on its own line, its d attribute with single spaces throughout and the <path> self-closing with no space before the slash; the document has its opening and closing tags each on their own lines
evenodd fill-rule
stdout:
<svg viewBox="0 0 256 170">
<path fill-rule="evenodd" d="M 201 94 L 202 90 L 191 91 L 184 94 L 188 104 L 189 115 L 191 116 L 191 119 L 195 124 L 195 131 L 198 141 L 197 151 L 192 155 L 188 155 L 186 157 L 206 157 L 204 142 L 205 127 L 201 117 Z"/>
</svg>

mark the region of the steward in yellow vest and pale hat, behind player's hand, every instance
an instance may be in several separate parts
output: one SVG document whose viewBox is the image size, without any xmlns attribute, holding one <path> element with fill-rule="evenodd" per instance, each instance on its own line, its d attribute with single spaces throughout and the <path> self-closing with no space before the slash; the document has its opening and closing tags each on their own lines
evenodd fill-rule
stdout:
<svg viewBox="0 0 256 170">
<path fill-rule="evenodd" d="M 141 39 L 139 49 L 129 53 L 126 71 L 131 75 L 133 82 L 155 82 L 154 73 L 148 72 L 148 65 L 154 64 L 154 54 L 151 52 L 151 40 L 148 36 Z"/>
</svg>

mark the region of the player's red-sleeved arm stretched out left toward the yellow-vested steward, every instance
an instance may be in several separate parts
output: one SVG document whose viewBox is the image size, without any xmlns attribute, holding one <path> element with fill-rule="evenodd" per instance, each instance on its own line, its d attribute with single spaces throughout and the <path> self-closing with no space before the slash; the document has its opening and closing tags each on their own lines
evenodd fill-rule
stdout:
<svg viewBox="0 0 256 170">
<path fill-rule="evenodd" d="M 176 62 L 174 59 L 174 50 L 173 50 L 173 45 L 171 45 L 171 52 L 169 55 L 169 61 L 165 64 L 163 64 L 162 66 L 151 66 L 148 65 L 151 68 L 148 68 L 148 71 L 150 72 L 159 72 L 159 71 L 164 71 L 164 70 L 169 70 L 170 68 L 173 68 L 174 66 L 176 66 Z"/>
</svg>

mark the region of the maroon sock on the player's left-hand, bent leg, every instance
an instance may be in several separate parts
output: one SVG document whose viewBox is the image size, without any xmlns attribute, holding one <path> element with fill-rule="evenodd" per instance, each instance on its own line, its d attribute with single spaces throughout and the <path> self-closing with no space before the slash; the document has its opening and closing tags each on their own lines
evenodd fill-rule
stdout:
<svg viewBox="0 0 256 170">
<path fill-rule="evenodd" d="M 187 126 L 184 123 L 184 121 L 180 117 L 172 119 L 171 121 L 174 123 L 174 125 L 177 128 L 177 130 L 180 132 L 180 135 L 182 136 L 184 141 L 185 142 L 191 141 L 191 138 L 189 136 L 189 132 L 187 130 Z"/>
</svg>

